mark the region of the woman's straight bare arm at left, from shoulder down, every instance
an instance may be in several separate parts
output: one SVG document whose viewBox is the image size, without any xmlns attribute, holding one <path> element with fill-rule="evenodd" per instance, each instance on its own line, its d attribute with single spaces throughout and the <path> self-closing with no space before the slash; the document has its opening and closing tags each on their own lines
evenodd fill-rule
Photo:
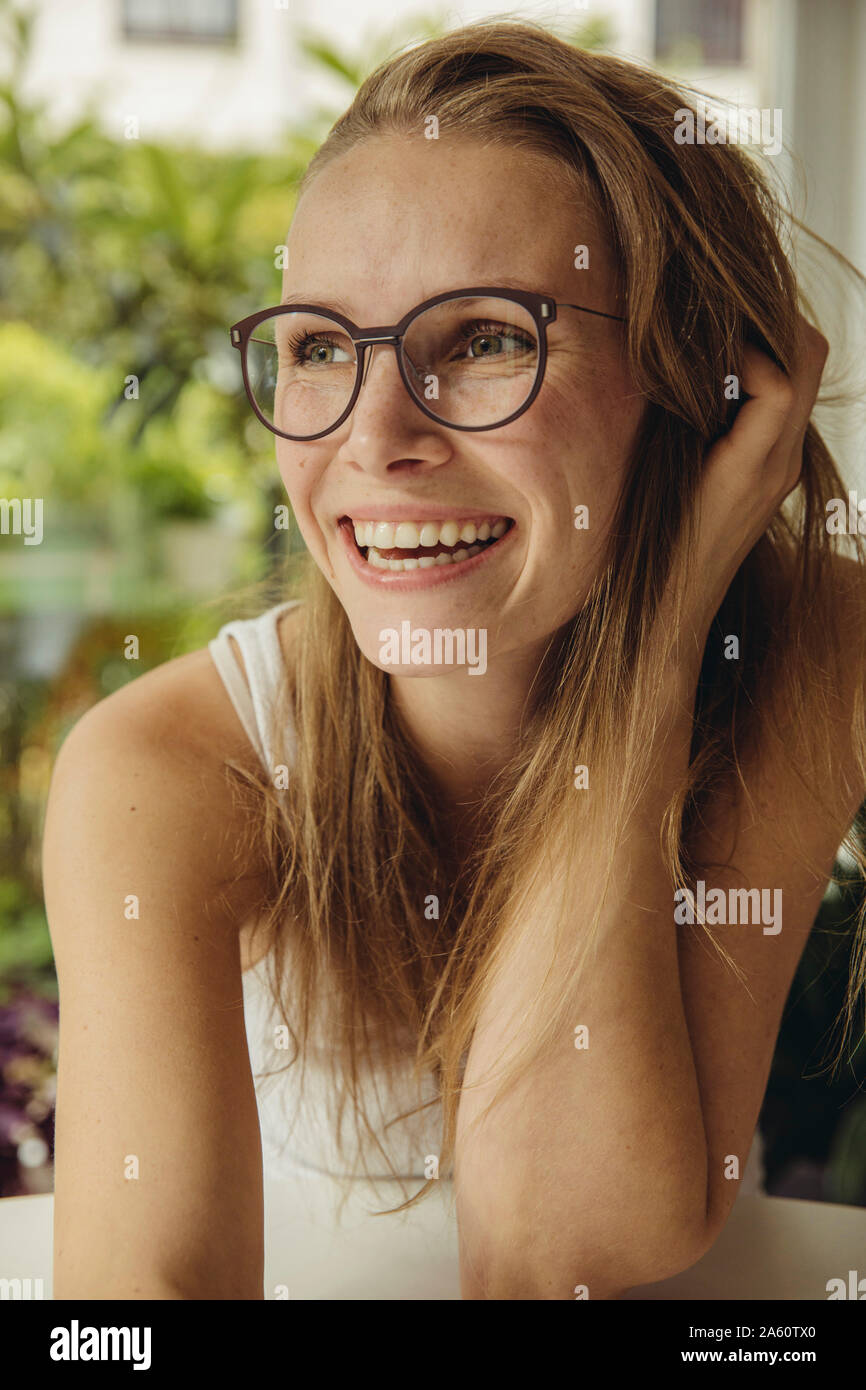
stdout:
<svg viewBox="0 0 866 1390">
<path fill-rule="evenodd" d="M 207 652 L 170 662 L 90 710 L 56 764 L 57 1298 L 263 1297 L 215 685 Z"/>
</svg>

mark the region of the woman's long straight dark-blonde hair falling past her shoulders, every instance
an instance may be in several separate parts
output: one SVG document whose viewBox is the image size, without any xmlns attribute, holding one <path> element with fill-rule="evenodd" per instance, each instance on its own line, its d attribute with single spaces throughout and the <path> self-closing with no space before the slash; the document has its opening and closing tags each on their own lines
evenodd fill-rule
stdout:
<svg viewBox="0 0 866 1390">
<path fill-rule="evenodd" d="M 663 678 L 649 634 L 676 552 L 691 555 L 706 449 L 730 425 L 720 382 L 740 377 L 746 343 L 785 370 L 794 360 L 802 296 L 783 250 L 781 204 L 740 146 L 674 143 L 676 113 L 688 104 L 657 74 L 581 51 L 538 25 L 474 24 L 373 72 L 302 185 L 360 140 L 423 139 L 430 115 L 441 138 L 552 157 L 564 186 L 594 200 L 610 236 L 630 366 L 646 402 L 630 460 L 639 485 L 623 486 L 592 591 L 550 641 L 517 751 L 478 808 L 471 853 L 455 856 L 388 677 L 361 655 L 341 603 L 306 557 L 292 570 L 291 592 L 304 598 L 304 616 L 274 735 L 284 737 L 291 712 L 297 753 L 279 759 L 291 764 L 289 784 L 281 790 L 231 764 L 239 792 L 252 796 L 250 834 L 271 869 L 260 930 L 295 1044 L 291 1065 L 303 1063 L 327 1002 L 338 1127 L 350 1104 L 356 1133 L 373 1134 L 364 1068 L 405 1068 L 414 1051 L 416 1076 L 432 1077 L 442 1102 L 439 1172 L 453 1163 L 485 981 L 512 948 L 509 919 L 544 873 L 539 845 L 570 844 L 567 860 L 578 866 L 592 823 L 592 842 L 614 847 L 648 777 L 641 713 Z M 844 649 L 831 592 L 834 538 L 824 524 L 830 496 L 845 496 L 845 484 L 810 424 L 799 485 L 741 566 L 706 644 L 692 762 L 660 827 L 671 912 L 673 888 L 694 881 L 689 837 L 702 808 L 719 787 L 745 785 L 741 759 L 783 737 L 778 712 L 802 735 L 809 766 L 830 776 L 827 712 Z M 859 538 L 855 549 L 862 564 Z M 730 632 L 740 635 L 740 660 L 723 657 Z M 866 785 L 862 698 L 855 726 Z M 575 764 L 610 790 L 603 805 L 575 796 Z M 815 787 L 809 792 L 820 796 Z M 856 840 L 847 844 L 863 865 Z M 610 855 L 606 883 L 614 870 Z M 425 912 L 431 898 L 438 915 Z M 594 927 L 599 913 L 601 902 Z M 866 977 L 863 940 L 860 919 L 847 1037 Z M 570 1030 L 563 1009 L 585 958 L 567 963 L 569 980 L 538 1013 L 544 1022 L 525 1038 L 513 1074 L 556 1030 Z"/>
</svg>

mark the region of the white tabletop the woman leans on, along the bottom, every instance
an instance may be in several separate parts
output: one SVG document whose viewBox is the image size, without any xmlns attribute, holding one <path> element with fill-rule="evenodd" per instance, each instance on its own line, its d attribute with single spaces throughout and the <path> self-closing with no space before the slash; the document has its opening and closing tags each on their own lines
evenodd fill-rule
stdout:
<svg viewBox="0 0 866 1390">
<path fill-rule="evenodd" d="M 367 1198 L 368 1202 L 368 1198 Z M 42 1279 L 51 1297 L 54 1198 L 0 1201 L 0 1277 Z M 265 1182 L 265 1297 L 459 1300 L 450 1184 L 398 1216 L 354 1198 L 336 1226 L 317 1179 Z M 866 1277 L 866 1208 L 741 1197 L 708 1255 L 627 1300 L 826 1300 L 828 1279 Z"/>
</svg>

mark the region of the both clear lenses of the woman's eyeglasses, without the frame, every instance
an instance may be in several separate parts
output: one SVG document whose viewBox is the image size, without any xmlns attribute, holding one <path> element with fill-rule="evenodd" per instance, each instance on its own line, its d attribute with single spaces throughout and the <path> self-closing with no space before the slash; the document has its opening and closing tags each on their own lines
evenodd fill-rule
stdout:
<svg viewBox="0 0 866 1390">
<path fill-rule="evenodd" d="M 434 304 L 411 321 L 402 348 L 411 395 L 443 424 L 496 425 L 521 407 L 535 385 L 535 321 L 510 299 Z M 292 310 L 256 325 L 246 366 L 268 424 L 309 438 L 336 424 L 349 404 L 357 352 L 342 324 Z"/>
</svg>

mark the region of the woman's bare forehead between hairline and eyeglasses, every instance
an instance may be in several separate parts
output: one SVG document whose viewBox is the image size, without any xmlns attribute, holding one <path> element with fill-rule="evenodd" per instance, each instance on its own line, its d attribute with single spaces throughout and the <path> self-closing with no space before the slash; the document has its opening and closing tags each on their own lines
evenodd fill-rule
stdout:
<svg viewBox="0 0 866 1390">
<path fill-rule="evenodd" d="M 591 249 L 575 270 L 575 246 Z M 468 285 L 569 299 L 610 291 L 607 238 L 562 165 L 514 146 L 375 136 L 327 164 L 297 203 L 284 293 L 352 302 L 359 321 Z"/>
</svg>

